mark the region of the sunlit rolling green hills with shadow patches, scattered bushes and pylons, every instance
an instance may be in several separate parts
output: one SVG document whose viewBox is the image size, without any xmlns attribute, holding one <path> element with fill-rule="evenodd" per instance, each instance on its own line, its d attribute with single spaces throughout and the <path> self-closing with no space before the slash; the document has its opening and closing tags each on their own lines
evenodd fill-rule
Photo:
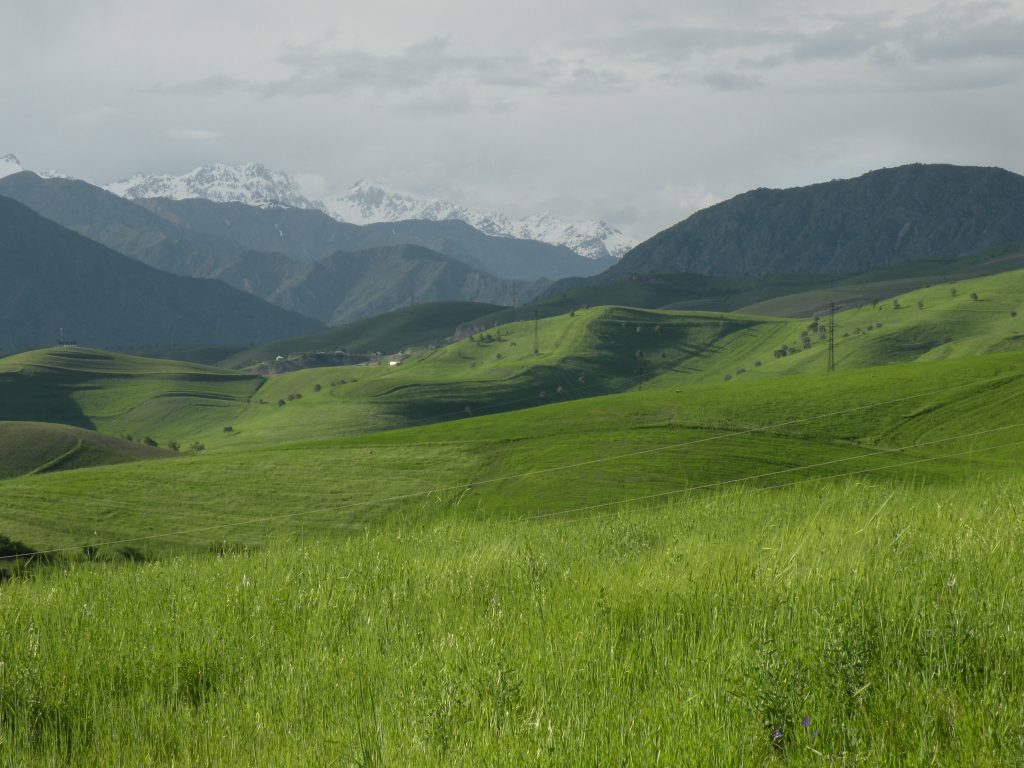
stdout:
<svg viewBox="0 0 1024 768">
<path fill-rule="evenodd" d="M 889 300 L 842 311 L 837 315 L 838 366 L 860 369 L 1021 348 L 1022 296 L 1024 271 L 1018 270 L 922 289 L 900 296 L 899 308 Z M 393 326 L 376 328 L 397 333 L 415 315 L 391 315 Z M 349 331 L 359 338 L 374 328 Z M 396 366 L 381 360 L 318 368 L 265 381 L 185 366 L 186 372 L 204 373 L 184 393 L 175 393 L 178 384 L 165 378 L 166 367 L 175 364 L 122 356 L 116 365 L 132 360 L 133 376 L 112 378 L 83 374 L 76 369 L 75 353 L 67 352 L 44 367 L 48 373 L 41 379 L 16 373 L 19 358 L 0 362 L 0 391 L 9 393 L 0 417 L 150 434 L 162 444 L 200 440 L 211 450 L 241 449 L 638 388 L 734 386 L 739 380 L 824 373 L 823 334 L 823 325 L 808 318 L 594 307 L 540 321 L 537 354 L 534 323 L 517 322 L 414 352 Z M 61 366 L 69 360 L 63 377 Z M 156 366 L 153 385 L 147 383 L 151 365 Z M 39 388 L 38 382 L 45 386 Z"/>
</svg>

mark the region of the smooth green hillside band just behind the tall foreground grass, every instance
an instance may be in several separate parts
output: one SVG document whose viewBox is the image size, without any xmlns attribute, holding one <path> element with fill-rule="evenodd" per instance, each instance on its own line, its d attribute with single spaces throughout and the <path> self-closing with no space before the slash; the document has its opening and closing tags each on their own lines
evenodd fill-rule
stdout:
<svg viewBox="0 0 1024 768">
<path fill-rule="evenodd" d="M 308 408 L 312 424 L 315 396 L 274 411 Z M 284 445 L 264 435 L 248 450 L 240 426 L 221 443 L 233 451 L 2 482 L 0 531 L 33 546 L 156 535 L 135 546 L 207 549 L 344 532 L 456 501 L 471 518 L 586 516 L 741 478 L 775 485 L 870 470 L 958 482 L 1018 465 L 1024 420 L 1007 414 L 1019 413 L 1024 353 L 1014 352 L 643 389 Z"/>
</svg>

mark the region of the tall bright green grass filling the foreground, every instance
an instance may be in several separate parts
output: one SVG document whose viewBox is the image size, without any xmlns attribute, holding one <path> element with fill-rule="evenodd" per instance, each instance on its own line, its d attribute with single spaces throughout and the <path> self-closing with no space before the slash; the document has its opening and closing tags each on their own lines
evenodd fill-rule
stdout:
<svg viewBox="0 0 1024 768">
<path fill-rule="evenodd" d="M 0 590 L 0 763 L 1019 765 L 1022 499 L 428 505 L 330 546 L 40 572 Z"/>
</svg>

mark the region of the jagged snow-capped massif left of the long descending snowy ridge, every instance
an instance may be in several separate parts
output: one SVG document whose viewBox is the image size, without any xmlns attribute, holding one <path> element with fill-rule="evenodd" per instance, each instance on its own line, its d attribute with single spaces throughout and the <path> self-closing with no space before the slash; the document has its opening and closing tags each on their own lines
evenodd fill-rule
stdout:
<svg viewBox="0 0 1024 768">
<path fill-rule="evenodd" d="M 139 198 L 202 198 L 215 203 L 255 205 L 272 201 L 295 208 L 319 208 L 302 194 L 290 176 L 260 163 L 195 168 L 180 176 L 136 174 L 108 184 L 108 191 L 129 200 Z"/>
</svg>

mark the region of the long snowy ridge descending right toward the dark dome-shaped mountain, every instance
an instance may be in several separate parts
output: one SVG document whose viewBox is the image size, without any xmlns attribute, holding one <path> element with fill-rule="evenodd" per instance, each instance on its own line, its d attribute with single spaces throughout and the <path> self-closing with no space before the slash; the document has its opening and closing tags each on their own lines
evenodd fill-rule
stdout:
<svg viewBox="0 0 1024 768">
<path fill-rule="evenodd" d="M 566 221 L 548 213 L 512 219 L 502 213 L 473 211 L 454 203 L 420 198 L 368 181 L 358 182 L 344 195 L 327 198 L 323 204 L 334 218 L 352 224 L 404 219 L 460 219 L 485 234 L 566 246 L 592 259 L 609 255 L 617 258 L 636 245 L 635 240 L 604 221 Z"/>
</svg>

